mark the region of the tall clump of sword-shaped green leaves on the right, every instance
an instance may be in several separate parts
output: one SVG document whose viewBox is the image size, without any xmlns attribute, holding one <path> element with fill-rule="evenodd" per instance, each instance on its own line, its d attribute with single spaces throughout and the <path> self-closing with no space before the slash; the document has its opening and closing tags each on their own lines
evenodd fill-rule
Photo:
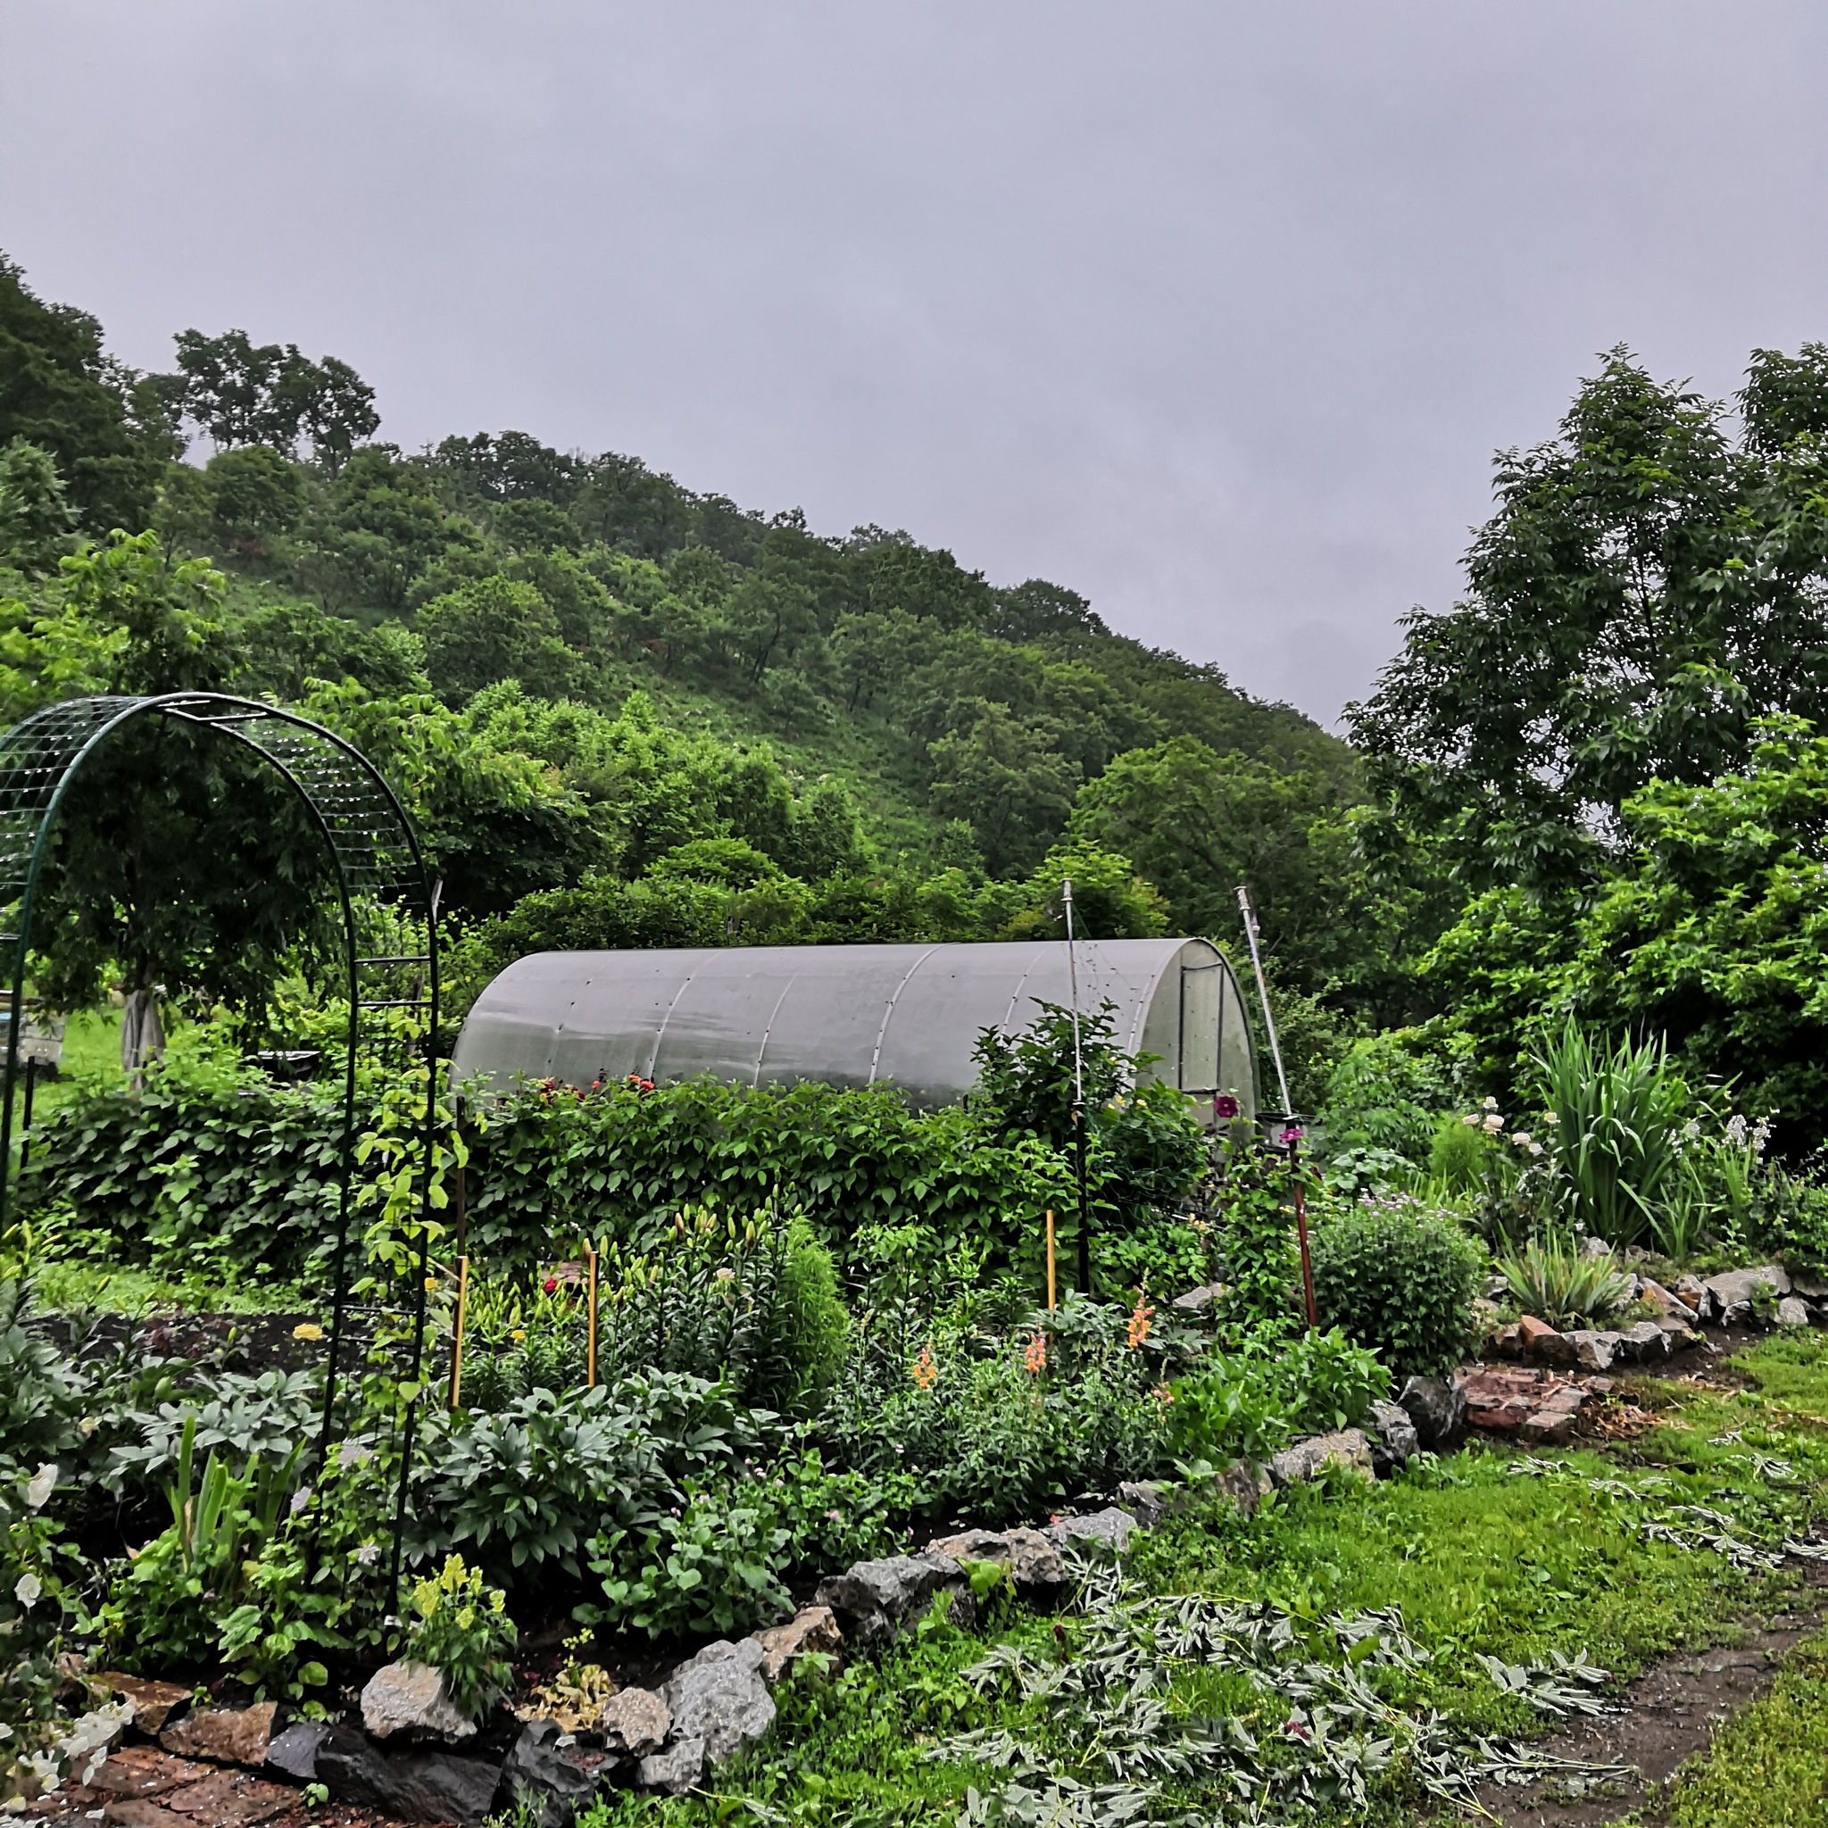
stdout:
<svg viewBox="0 0 1828 1828">
<path fill-rule="evenodd" d="M 1568 1018 L 1530 1057 L 1552 1115 L 1543 1142 L 1565 1177 L 1567 1217 L 1620 1249 L 1653 1232 L 1676 1192 L 1689 1091 L 1662 1038 L 1587 1036 Z"/>
</svg>

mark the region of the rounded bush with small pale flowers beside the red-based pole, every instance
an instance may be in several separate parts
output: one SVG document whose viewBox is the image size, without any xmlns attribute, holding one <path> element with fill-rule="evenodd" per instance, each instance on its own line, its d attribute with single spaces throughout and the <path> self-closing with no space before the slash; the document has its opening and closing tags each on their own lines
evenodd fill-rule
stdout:
<svg viewBox="0 0 1828 1828">
<path fill-rule="evenodd" d="M 1404 1196 L 1362 1199 L 1318 1216 L 1309 1256 L 1322 1325 L 1373 1347 L 1398 1376 L 1459 1360 L 1484 1254 L 1451 1214 Z"/>
</svg>

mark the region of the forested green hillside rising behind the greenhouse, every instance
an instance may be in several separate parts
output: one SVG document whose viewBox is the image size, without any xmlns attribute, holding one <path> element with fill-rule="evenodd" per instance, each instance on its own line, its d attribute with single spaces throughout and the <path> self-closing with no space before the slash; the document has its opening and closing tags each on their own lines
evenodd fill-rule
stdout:
<svg viewBox="0 0 1828 1828">
<path fill-rule="evenodd" d="M 1068 587 L 521 431 L 408 453 L 349 366 L 239 331 L 185 331 L 172 373 L 137 375 L 9 265 L 0 364 L 0 717 L 214 686 L 344 729 L 437 852 L 459 998 L 543 945 L 1058 930 L 1071 874 L 1093 932 L 1219 940 L 1249 881 L 1313 1020 L 1411 1013 L 1439 894 L 1367 879 L 1345 744 Z M 263 974 L 223 958 L 258 934 L 276 963 L 303 932 L 309 843 L 282 856 L 283 819 L 234 815 L 254 790 L 230 759 L 181 806 L 132 764 L 115 788 L 159 813 L 110 813 L 82 881 L 115 870 L 117 916 L 90 894 L 48 982 L 93 989 L 113 958 L 252 994 Z M 174 850 L 228 841 L 280 887 L 250 914 L 188 881 L 205 914 L 168 930 Z"/>
</svg>

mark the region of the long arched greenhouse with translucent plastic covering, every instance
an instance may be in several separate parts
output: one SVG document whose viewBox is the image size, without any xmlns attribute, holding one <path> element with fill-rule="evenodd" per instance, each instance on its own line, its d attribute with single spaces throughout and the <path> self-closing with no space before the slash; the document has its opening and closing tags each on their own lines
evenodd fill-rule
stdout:
<svg viewBox="0 0 1828 1828">
<path fill-rule="evenodd" d="M 1080 940 L 1079 1007 L 1117 1009 L 1126 1053 L 1208 1108 L 1256 1111 L 1238 980 L 1205 940 Z M 1069 1004 L 1066 945 L 757 945 L 676 952 L 536 952 L 477 998 L 455 1077 L 590 1086 L 700 1073 L 744 1086 L 892 1080 L 949 1104 L 976 1079 L 991 1026 L 1026 1029 L 1038 1004 Z"/>
</svg>

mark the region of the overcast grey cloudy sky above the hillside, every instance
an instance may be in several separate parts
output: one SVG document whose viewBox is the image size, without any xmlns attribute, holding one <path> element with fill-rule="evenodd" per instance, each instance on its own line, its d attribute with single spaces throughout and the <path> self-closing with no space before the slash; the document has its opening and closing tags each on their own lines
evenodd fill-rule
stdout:
<svg viewBox="0 0 1828 1828">
<path fill-rule="evenodd" d="M 0 247 L 1322 718 L 1596 351 L 1828 336 L 1828 9 L 0 0 Z"/>
</svg>

